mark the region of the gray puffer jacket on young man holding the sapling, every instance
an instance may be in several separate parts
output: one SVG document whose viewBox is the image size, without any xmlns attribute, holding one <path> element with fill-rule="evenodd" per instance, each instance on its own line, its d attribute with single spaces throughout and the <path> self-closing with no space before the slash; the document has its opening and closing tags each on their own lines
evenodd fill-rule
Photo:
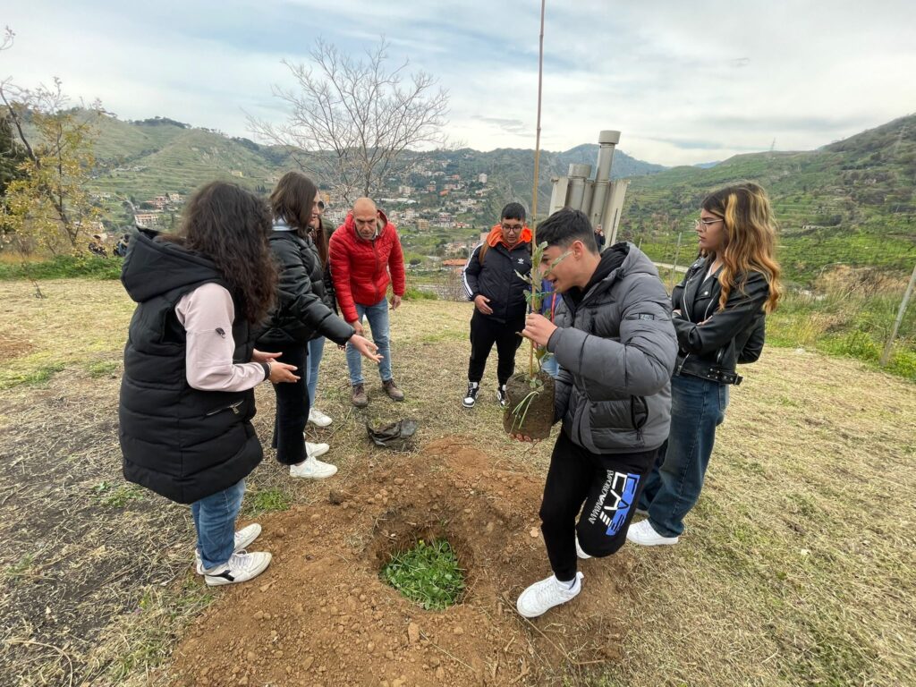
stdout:
<svg viewBox="0 0 916 687">
<path fill-rule="evenodd" d="M 659 273 L 635 245 L 608 248 L 584 293 L 563 294 L 547 348 L 561 365 L 554 417 L 591 453 L 658 448 L 671 424 L 678 344 Z"/>
</svg>

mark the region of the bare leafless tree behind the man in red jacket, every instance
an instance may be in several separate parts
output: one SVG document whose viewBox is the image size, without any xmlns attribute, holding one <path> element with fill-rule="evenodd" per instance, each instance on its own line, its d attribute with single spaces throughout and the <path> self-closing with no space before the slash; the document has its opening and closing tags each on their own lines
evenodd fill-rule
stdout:
<svg viewBox="0 0 916 687">
<path fill-rule="evenodd" d="M 249 115 L 249 129 L 288 148 L 294 164 L 345 201 L 370 195 L 398 169 L 404 151 L 446 144 L 448 92 L 424 71 L 408 75 L 409 60 L 389 67 L 388 46 L 383 37 L 356 58 L 319 39 L 309 64 L 283 60 L 297 87 L 272 91 L 289 106 L 287 122 Z"/>
</svg>

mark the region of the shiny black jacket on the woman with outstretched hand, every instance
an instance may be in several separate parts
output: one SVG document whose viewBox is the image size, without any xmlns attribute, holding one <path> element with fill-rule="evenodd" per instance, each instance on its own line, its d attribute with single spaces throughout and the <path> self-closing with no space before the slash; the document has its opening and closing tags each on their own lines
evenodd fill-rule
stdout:
<svg viewBox="0 0 916 687">
<path fill-rule="evenodd" d="M 270 250 L 279 273 L 278 304 L 257 345 L 269 351 L 270 346 L 305 345 L 316 336 L 345 344 L 355 330 L 322 302 L 322 265 L 314 247 L 294 232 L 275 230 Z"/>
</svg>

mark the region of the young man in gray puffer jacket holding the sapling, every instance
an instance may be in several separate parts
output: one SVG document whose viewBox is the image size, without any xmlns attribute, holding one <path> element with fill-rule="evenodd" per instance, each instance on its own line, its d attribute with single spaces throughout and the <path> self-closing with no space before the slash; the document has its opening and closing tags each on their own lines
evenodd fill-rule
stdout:
<svg viewBox="0 0 916 687">
<path fill-rule="evenodd" d="M 554 418 L 562 430 L 540 506 L 553 574 L 518 596 L 525 617 L 579 594 L 577 556 L 609 556 L 624 544 L 639 491 L 668 436 L 677 354 L 668 295 L 635 245 L 599 254 L 588 218 L 570 208 L 540 224 L 537 240 L 547 242 L 541 266 L 562 305 L 556 323 L 529 314 L 522 335 L 546 345 L 560 363 Z"/>
</svg>

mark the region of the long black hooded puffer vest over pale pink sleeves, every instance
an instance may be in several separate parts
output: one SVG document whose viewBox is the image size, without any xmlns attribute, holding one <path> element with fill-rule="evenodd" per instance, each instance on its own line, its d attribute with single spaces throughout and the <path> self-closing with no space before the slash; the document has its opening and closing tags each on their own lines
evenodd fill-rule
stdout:
<svg viewBox="0 0 916 687">
<path fill-rule="evenodd" d="M 130 242 L 121 275 L 138 303 L 121 380 L 124 476 L 172 501 L 193 503 L 244 479 L 264 453 L 251 425 L 254 390 L 202 391 L 187 381 L 186 333 L 175 306 L 203 284 L 222 284 L 219 270 L 205 256 L 153 236 L 138 234 Z M 232 336 L 233 361 L 250 361 L 249 327 L 237 314 Z"/>
</svg>

